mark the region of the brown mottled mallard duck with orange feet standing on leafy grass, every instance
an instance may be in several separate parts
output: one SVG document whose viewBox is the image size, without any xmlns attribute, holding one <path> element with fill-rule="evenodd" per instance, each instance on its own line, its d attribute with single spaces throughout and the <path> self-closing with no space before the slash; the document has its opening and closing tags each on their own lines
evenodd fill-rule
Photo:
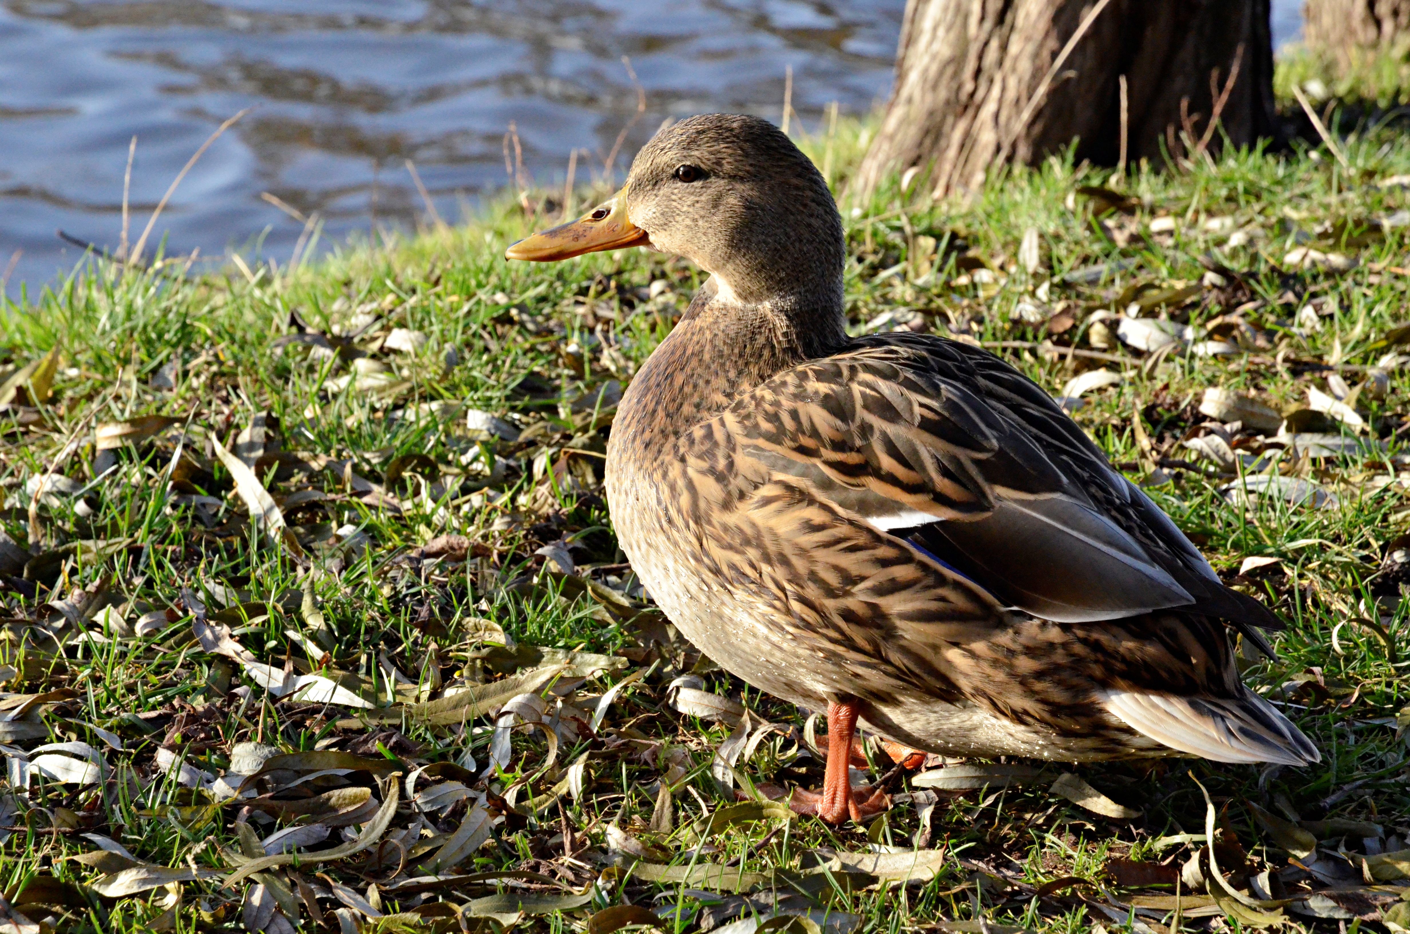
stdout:
<svg viewBox="0 0 1410 934">
<path fill-rule="evenodd" d="M 632 567 L 697 646 L 828 711 L 821 794 L 853 820 L 862 728 L 959 756 L 1203 756 L 1317 748 L 1238 676 L 1262 604 L 1035 382 L 970 344 L 849 337 L 822 175 L 766 120 L 663 128 L 615 198 L 509 247 L 644 245 L 709 272 L 622 398 L 606 494 Z"/>
</svg>

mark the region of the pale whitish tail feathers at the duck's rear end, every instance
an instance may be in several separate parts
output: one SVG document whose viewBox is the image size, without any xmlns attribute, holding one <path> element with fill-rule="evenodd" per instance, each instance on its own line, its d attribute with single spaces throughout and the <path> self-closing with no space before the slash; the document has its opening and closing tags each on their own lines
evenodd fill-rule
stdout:
<svg viewBox="0 0 1410 934">
<path fill-rule="evenodd" d="M 1136 732 L 1214 762 L 1321 762 L 1317 746 L 1276 707 L 1244 689 L 1237 698 L 1108 690 L 1101 704 Z"/>
</svg>

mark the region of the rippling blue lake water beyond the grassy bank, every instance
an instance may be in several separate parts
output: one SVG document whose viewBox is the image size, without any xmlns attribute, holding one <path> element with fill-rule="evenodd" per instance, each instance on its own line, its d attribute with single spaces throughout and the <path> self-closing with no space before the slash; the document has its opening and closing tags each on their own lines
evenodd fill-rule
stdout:
<svg viewBox="0 0 1410 934">
<path fill-rule="evenodd" d="M 523 162 L 580 178 L 636 113 L 618 166 L 666 117 L 778 119 L 784 75 L 812 130 L 833 100 L 884 100 L 904 0 L 4 0 L 0 4 L 0 274 L 8 292 L 72 269 L 75 238 L 116 248 L 137 137 L 133 238 L 186 159 L 235 111 L 161 216 L 168 253 L 219 258 L 259 244 L 288 260 L 303 224 L 326 241 L 424 216 L 410 159 L 440 214 Z M 1297 0 L 1275 0 L 1279 41 Z"/>
</svg>

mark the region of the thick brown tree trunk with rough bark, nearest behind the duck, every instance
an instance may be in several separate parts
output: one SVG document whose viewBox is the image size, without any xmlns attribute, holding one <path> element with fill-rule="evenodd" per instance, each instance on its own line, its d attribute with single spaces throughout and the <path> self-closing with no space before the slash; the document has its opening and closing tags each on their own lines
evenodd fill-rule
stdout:
<svg viewBox="0 0 1410 934">
<path fill-rule="evenodd" d="M 909 0 L 895 87 L 854 188 L 916 168 L 942 198 L 1073 140 L 1079 159 L 1115 165 L 1121 76 L 1131 159 L 1218 145 L 1210 114 L 1221 95 L 1218 121 L 1235 145 L 1272 135 L 1269 1 Z"/>
</svg>

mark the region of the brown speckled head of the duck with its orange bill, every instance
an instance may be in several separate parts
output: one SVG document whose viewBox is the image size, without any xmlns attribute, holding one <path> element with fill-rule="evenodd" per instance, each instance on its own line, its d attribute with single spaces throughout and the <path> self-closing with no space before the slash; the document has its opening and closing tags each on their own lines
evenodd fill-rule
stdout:
<svg viewBox="0 0 1410 934">
<path fill-rule="evenodd" d="M 716 301 L 842 310 L 845 243 L 832 193 L 759 117 L 705 114 L 660 130 L 611 200 L 505 255 L 548 261 L 639 245 L 711 272 Z"/>
</svg>

